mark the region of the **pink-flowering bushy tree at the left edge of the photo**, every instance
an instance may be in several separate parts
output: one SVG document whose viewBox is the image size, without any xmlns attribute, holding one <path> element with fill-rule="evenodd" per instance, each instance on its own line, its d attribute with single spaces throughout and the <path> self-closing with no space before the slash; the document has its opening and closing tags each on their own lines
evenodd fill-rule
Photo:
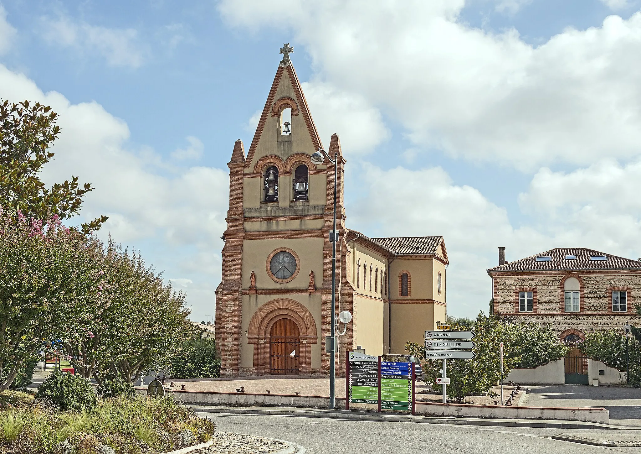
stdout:
<svg viewBox="0 0 641 454">
<path fill-rule="evenodd" d="M 96 305 L 95 248 L 55 215 L 41 221 L 0 212 L 0 391 L 45 340 L 76 335 Z"/>
</svg>

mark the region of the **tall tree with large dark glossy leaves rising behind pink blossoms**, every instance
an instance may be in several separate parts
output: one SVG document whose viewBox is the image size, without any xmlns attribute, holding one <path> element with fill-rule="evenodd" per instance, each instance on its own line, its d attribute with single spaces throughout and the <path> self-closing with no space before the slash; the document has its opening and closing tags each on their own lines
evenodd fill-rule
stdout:
<svg viewBox="0 0 641 454">
<path fill-rule="evenodd" d="M 57 120 L 51 107 L 40 103 L 0 103 L 0 205 L 14 220 L 19 213 L 42 221 L 53 215 L 69 219 L 92 190 L 89 183 L 80 187 L 77 176 L 50 189 L 40 180 L 42 167 L 54 156 L 49 147 L 60 135 Z M 82 224 L 81 230 L 91 233 L 107 219 L 98 217 Z"/>
</svg>

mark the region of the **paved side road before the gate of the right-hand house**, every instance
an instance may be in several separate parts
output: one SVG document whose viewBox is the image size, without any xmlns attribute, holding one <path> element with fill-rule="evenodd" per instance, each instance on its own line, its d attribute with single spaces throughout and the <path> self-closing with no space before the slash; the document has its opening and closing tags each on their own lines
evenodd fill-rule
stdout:
<svg viewBox="0 0 641 454">
<path fill-rule="evenodd" d="M 617 386 L 528 386 L 528 407 L 605 407 L 610 423 L 641 425 L 641 389 Z"/>
</svg>

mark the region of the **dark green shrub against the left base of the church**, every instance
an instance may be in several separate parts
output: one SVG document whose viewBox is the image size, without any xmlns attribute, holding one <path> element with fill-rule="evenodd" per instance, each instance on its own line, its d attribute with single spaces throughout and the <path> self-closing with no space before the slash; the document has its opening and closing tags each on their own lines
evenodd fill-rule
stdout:
<svg viewBox="0 0 641 454">
<path fill-rule="evenodd" d="M 216 359 L 214 339 L 190 339 L 169 367 L 174 378 L 219 378 L 221 360 Z"/>
</svg>

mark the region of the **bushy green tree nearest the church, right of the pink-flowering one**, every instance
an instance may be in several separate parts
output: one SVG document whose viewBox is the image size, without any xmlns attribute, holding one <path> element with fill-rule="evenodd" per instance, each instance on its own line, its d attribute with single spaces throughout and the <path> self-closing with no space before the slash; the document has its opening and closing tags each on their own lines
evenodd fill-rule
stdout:
<svg viewBox="0 0 641 454">
<path fill-rule="evenodd" d="M 103 251 L 99 292 L 104 301 L 83 321 L 81 335 L 64 342 L 76 370 L 102 383 L 129 383 L 150 368 L 166 367 L 191 329 L 185 296 L 112 241 Z"/>
</svg>

